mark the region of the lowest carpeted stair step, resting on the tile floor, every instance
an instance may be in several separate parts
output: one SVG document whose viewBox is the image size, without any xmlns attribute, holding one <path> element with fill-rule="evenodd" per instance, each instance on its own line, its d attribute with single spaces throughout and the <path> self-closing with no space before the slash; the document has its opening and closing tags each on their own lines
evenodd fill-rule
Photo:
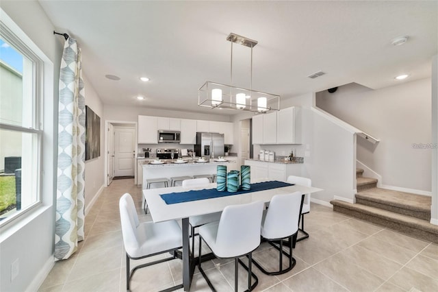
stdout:
<svg viewBox="0 0 438 292">
<path fill-rule="evenodd" d="M 417 236 L 426 241 L 438 243 L 438 226 L 422 219 L 362 204 L 350 204 L 339 199 L 334 199 L 330 203 L 333 205 L 335 212 L 370 221 L 409 236 Z"/>
</svg>

